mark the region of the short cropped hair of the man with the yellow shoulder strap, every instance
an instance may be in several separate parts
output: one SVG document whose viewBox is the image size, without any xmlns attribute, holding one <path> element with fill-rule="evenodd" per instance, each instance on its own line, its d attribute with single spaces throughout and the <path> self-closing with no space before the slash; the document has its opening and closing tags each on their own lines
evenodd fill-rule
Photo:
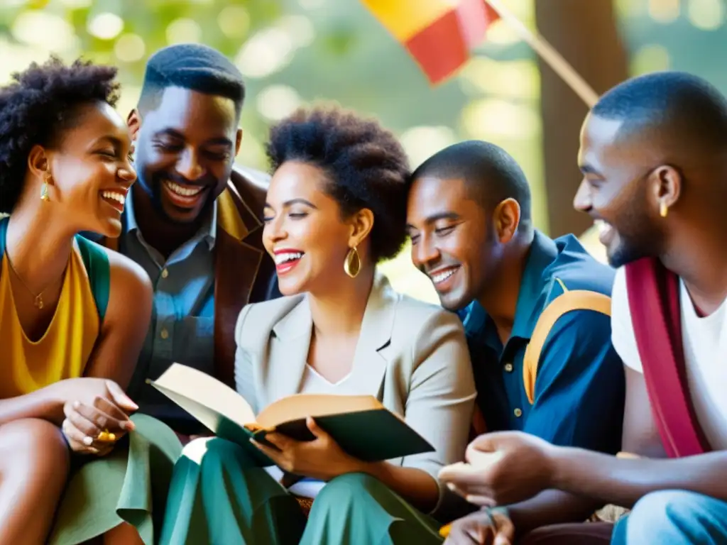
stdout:
<svg viewBox="0 0 727 545">
<path fill-rule="evenodd" d="M 518 228 L 531 228 L 528 179 L 515 159 L 497 145 L 481 140 L 453 144 L 417 167 L 410 183 L 424 177 L 461 179 L 488 214 L 506 198 L 513 198 L 520 205 Z"/>
</svg>

